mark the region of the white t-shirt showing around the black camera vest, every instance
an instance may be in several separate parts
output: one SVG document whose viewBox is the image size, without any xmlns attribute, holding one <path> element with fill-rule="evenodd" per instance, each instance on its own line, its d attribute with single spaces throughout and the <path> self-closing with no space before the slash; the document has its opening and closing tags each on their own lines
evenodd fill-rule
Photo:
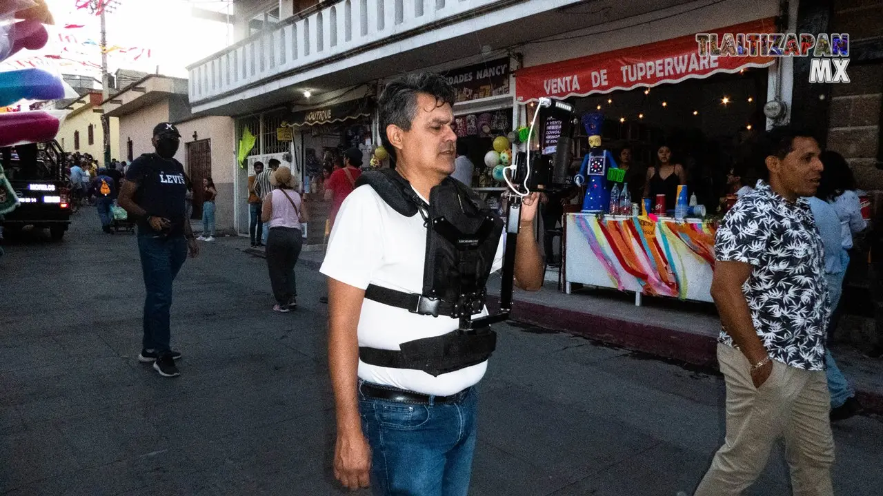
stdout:
<svg viewBox="0 0 883 496">
<path fill-rule="evenodd" d="M 426 200 L 426 199 L 424 199 Z M 502 267 L 503 238 L 491 271 Z M 409 293 L 423 292 L 426 228 L 420 214 L 405 217 L 370 186 L 361 186 L 343 200 L 320 272 L 359 289 L 368 284 Z M 487 308 L 479 315 L 487 315 Z M 400 349 L 403 342 L 447 334 L 459 319 L 419 315 L 365 299 L 358 319 L 358 345 Z M 358 377 L 383 386 L 424 395 L 453 395 L 481 380 L 487 361 L 433 377 L 411 369 L 379 367 L 358 361 Z"/>
</svg>

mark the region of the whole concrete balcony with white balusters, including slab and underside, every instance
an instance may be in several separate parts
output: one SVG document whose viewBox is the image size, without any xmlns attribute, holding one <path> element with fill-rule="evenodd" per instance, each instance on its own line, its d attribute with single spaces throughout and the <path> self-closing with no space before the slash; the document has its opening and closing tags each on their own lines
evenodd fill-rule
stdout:
<svg viewBox="0 0 883 496">
<path fill-rule="evenodd" d="M 188 67 L 194 113 L 237 115 L 583 27 L 584 0 L 345 0 Z M 653 2 L 651 2 L 653 3 Z M 623 4 L 623 3 L 620 3 Z"/>
</svg>

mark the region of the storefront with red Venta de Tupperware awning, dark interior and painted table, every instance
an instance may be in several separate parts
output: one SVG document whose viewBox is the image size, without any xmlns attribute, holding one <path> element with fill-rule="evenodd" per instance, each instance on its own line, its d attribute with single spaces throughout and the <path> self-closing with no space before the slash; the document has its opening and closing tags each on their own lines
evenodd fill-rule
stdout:
<svg viewBox="0 0 883 496">
<path fill-rule="evenodd" d="M 721 39 L 775 31 L 774 19 L 712 30 Z M 566 214 L 562 279 L 568 292 L 580 283 L 635 291 L 636 303 L 641 294 L 711 301 L 721 197 L 732 187 L 727 175 L 739 145 L 766 124 L 771 64 L 773 57 L 747 50 L 744 56 L 700 55 L 695 35 L 688 35 L 517 71 L 517 101 L 548 96 L 572 103 L 579 117 L 604 115 L 602 146 L 616 161 L 623 147 L 632 151 L 636 170 L 629 177 L 642 183 L 630 184 L 634 203 L 645 196 L 646 171 L 653 175 L 665 145 L 672 162 L 683 166 L 688 197 L 695 194 L 705 207 L 705 216 L 681 221 L 668 210 L 673 205 L 659 215 Z M 588 151 L 586 131 L 578 128 L 570 150 L 576 166 Z"/>
</svg>

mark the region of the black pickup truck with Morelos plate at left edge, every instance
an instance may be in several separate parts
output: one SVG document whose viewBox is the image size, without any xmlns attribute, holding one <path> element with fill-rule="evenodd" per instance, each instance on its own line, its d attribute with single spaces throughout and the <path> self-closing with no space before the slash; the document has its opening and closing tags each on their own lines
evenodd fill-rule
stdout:
<svg viewBox="0 0 883 496">
<path fill-rule="evenodd" d="M 64 152 L 55 140 L 0 147 L 0 165 L 20 202 L 19 207 L 2 217 L 4 229 L 16 231 L 34 226 L 48 228 L 56 241 L 64 237 L 71 225 L 71 192 L 63 157 Z"/>
</svg>

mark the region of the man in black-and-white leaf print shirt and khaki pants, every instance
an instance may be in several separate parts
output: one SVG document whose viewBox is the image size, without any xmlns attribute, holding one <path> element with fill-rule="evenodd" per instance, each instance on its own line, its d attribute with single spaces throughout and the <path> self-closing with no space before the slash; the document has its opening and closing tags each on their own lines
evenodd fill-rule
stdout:
<svg viewBox="0 0 883 496">
<path fill-rule="evenodd" d="M 723 325 L 717 354 L 727 434 L 696 494 L 741 494 L 784 437 L 794 494 L 833 495 L 825 261 L 801 199 L 819 187 L 819 144 L 782 127 L 752 145 L 766 180 L 736 202 L 714 243 L 711 292 Z"/>
</svg>

